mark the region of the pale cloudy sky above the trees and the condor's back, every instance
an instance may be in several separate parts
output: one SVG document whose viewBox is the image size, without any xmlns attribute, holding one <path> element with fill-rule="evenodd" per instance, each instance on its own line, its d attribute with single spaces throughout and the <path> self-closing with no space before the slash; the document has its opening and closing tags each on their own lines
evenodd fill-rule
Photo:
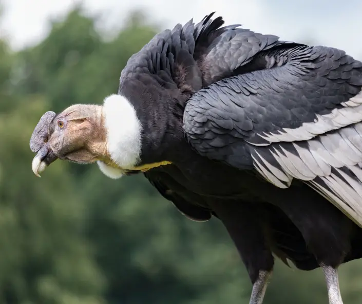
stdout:
<svg viewBox="0 0 362 304">
<path fill-rule="evenodd" d="M 362 59 L 362 0 L 0 0 L 5 12 L 0 35 L 14 49 L 42 40 L 49 31 L 48 20 L 62 17 L 82 2 L 91 14 L 102 14 L 101 26 L 117 29 L 130 10 L 144 8 L 150 20 L 172 28 L 194 18 L 198 22 L 216 11 L 228 24 L 282 40 L 298 42 L 313 38 L 316 44 L 344 49 Z"/>
</svg>

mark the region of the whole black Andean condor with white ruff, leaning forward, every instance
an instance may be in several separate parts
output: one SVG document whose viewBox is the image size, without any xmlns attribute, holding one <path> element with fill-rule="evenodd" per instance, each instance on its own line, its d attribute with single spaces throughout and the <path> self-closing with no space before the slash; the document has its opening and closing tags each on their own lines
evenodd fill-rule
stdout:
<svg viewBox="0 0 362 304">
<path fill-rule="evenodd" d="M 222 221 L 250 303 L 274 253 L 320 266 L 341 304 L 337 267 L 362 256 L 362 62 L 212 16 L 157 34 L 103 105 L 45 113 L 32 169 L 60 158 L 111 178 L 143 172 L 185 216 Z"/>
</svg>

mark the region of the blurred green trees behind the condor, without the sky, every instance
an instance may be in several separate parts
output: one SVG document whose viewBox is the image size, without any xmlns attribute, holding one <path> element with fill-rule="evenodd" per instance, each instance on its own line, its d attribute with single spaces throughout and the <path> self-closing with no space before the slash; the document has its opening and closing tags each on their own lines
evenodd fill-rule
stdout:
<svg viewBox="0 0 362 304">
<path fill-rule="evenodd" d="M 31 171 L 41 115 L 117 92 L 127 59 L 156 33 L 140 14 L 111 41 L 80 9 L 39 45 L 0 41 L 0 303 L 247 303 L 251 283 L 220 222 L 196 223 L 143 176 L 114 181 L 96 165 Z M 362 302 L 362 262 L 340 267 L 345 302 Z M 327 303 L 320 270 L 277 262 L 265 303 Z"/>
</svg>

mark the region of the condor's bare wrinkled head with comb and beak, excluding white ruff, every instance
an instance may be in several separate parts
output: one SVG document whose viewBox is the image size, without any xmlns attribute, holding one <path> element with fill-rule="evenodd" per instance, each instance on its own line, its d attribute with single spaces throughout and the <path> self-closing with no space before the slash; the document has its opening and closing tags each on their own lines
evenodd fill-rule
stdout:
<svg viewBox="0 0 362 304">
<path fill-rule="evenodd" d="M 102 106 L 75 104 L 58 115 L 45 113 L 34 129 L 30 149 L 37 153 L 32 163 L 37 176 L 57 158 L 80 164 L 105 160 Z"/>
</svg>

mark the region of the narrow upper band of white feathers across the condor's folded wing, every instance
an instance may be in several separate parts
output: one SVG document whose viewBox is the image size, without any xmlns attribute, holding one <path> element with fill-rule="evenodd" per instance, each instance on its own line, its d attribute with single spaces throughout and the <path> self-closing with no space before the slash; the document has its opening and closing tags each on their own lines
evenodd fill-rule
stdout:
<svg viewBox="0 0 362 304">
<path fill-rule="evenodd" d="M 290 129 L 283 128 L 284 132 L 278 131 L 257 133 L 256 135 L 272 142 L 280 141 L 297 141 L 308 140 L 319 134 L 326 133 L 328 131 L 337 130 L 342 127 L 349 126 L 349 124 L 362 121 L 362 91 L 349 101 L 342 102 L 342 109 L 333 109 L 331 113 L 326 115 L 316 115 L 317 118 L 314 122 L 305 122 L 301 127 Z M 253 142 L 249 142 L 253 144 Z M 255 146 L 268 146 L 269 144 L 258 144 Z"/>
</svg>

